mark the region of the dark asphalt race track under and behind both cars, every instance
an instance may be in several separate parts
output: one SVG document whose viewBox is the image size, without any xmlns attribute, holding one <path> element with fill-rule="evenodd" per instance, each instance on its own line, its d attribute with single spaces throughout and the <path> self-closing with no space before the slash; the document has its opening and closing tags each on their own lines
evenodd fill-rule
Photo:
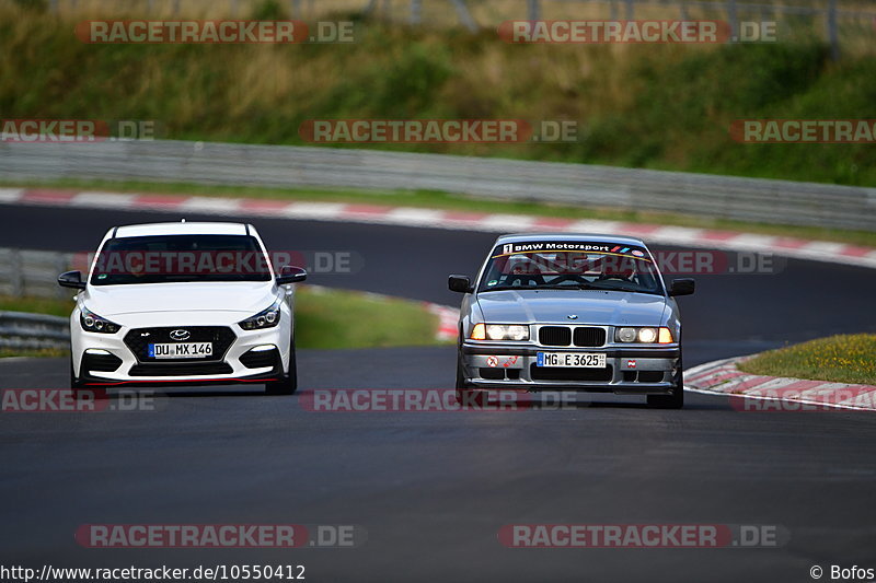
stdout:
<svg viewBox="0 0 876 583">
<path fill-rule="evenodd" d="M 176 218 L 176 215 L 171 215 Z M 0 246 L 91 252 L 115 224 L 168 214 L 0 207 Z M 189 220 L 200 219 L 187 215 Z M 205 220 L 216 220 L 205 217 Z M 359 254 L 324 285 L 458 302 L 493 234 L 252 221 L 272 249 Z M 680 300 L 688 366 L 842 331 L 874 331 L 873 271 L 789 260 L 779 275 L 698 278 Z M 680 411 L 590 397 L 517 412 L 313 412 L 320 388 L 448 388 L 452 347 L 300 351 L 297 396 L 229 387 L 153 410 L 2 413 L 0 563 L 303 564 L 308 581 L 811 581 L 876 567 L 876 418 Z M 65 387 L 64 359 L 0 362 L 0 388 Z M 114 399 L 111 399 L 113 401 Z M 592 403 L 596 401 L 596 403 Z M 344 524 L 347 549 L 87 549 L 82 524 Z M 780 525 L 775 548 L 510 549 L 508 524 Z M 825 580 L 829 579 L 826 573 Z"/>
</svg>

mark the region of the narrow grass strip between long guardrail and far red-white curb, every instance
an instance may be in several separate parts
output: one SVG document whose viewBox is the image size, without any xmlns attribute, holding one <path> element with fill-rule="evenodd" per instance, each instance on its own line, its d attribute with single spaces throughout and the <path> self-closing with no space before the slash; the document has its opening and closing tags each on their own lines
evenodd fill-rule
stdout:
<svg viewBox="0 0 876 583">
<path fill-rule="evenodd" d="M 114 193 L 155 193 L 193 196 L 269 198 L 318 202 L 349 202 L 385 206 L 418 207 L 466 212 L 491 212 L 503 214 L 527 214 L 531 217 L 558 217 L 563 219 L 596 219 L 604 221 L 638 222 L 717 229 L 761 233 L 807 240 L 833 241 L 852 245 L 876 247 L 876 232 L 845 231 L 819 226 L 777 225 L 708 219 L 672 212 L 618 210 L 581 206 L 552 205 L 530 201 L 505 201 L 476 198 L 437 190 L 316 189 L 316 188 L 264 188 L 238 186 L 211 186 L 191 183 L 148 183 L 61 179 L 45 182 L 0 180 L 0 186 L 71 188 L 82 190 L 106 190 Z"/>
</svg>

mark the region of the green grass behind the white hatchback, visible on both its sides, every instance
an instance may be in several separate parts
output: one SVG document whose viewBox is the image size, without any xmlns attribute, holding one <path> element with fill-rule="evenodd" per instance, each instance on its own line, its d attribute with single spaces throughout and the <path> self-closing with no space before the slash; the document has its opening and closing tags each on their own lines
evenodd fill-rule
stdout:
<svg viewBox="0 0 876 583">
<path fill-rule="evenodd" d="M 67 300 L 4 298 L 0 310 L 69 316 Z M 300 287 L 296 291 L 297 348 L 343 349 L 428 346 L 438 318 L 419 302 L 372 294 Z M 15 351 L 0 349 L 0 357 L 58 357 L 62 350 Z"/>
</svg>

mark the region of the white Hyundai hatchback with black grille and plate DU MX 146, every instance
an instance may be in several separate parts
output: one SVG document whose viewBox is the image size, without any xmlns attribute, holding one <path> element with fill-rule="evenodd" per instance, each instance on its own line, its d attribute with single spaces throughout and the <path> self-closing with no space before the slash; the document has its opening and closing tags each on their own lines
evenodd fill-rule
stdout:
<svg viewBox="0 0 876 583">
<path fill-rule="evenodd" d="M 264 383 L 297 388 L 295 282 L 255 229 L 178 222 L 111 229 L 70 316 L 72 388 Z"/>
</svg>

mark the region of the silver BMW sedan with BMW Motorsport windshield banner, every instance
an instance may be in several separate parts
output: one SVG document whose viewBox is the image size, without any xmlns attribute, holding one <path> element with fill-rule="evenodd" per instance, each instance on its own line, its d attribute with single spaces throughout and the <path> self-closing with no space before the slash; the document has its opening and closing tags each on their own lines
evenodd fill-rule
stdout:
<svg viewBox="0 0 876 583">
<path fill-rule="evenodd" d="M 684 404 L 681 318 L 645 243 L 615 235 L 503 235 L 463 293 L 457 393 L 569 389 Z"/>
</svg>

